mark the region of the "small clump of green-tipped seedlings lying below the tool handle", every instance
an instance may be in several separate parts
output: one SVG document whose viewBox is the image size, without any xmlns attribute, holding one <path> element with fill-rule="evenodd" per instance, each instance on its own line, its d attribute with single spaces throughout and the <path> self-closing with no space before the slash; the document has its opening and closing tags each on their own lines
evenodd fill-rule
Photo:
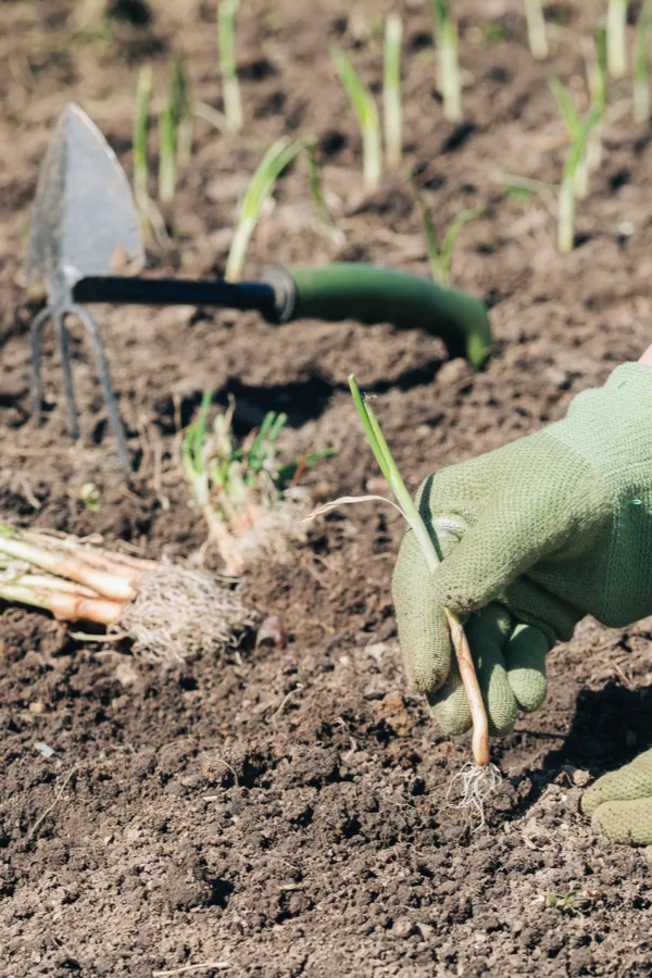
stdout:
<svg viewBox="0 0 652 978">
<path fill-rule="evenodd" d="M 290 543 L 302 538 L 299 514 L 306 493 L 299 489 L 299 478 L 333 452 L 315 452 L 283 465 L 277 442 L 287 415 L 269 411 L 260 429 L 239 443 L 233 431 L 233 402 L 209 426 L 211 398 L 206 391 L 186 429 L 181 465 L 224 573 L 237 577 L 256 560 L 288 556 Z"/>
</svg>

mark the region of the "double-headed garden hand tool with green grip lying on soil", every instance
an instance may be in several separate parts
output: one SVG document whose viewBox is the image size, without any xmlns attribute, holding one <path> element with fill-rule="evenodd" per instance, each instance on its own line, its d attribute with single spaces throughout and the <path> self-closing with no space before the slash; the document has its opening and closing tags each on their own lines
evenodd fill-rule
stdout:
<svg viewBox="0 0 652 978">
<path fill-rule="evenodd" d="M 27 284 L 45 283 L 46 308 L 32 325 L 32 401 L 40 417 L 40 340 L 51 319 L 61 350 L 70 430 L 78 436 L 66 318 L 84 324 L 96 360 L 120 459 L 129 467 L 124 427 L 90 302 L 217 305 L 256 310 L 268 323 L 300 318 L 391 323 L 443 339 L 449 353 L 480 366 L 491 334 L 482 302 L 421 276 L 364 264 L 276 268 L 261 281 L 192 281 L 138 277 L 145 246 L 126 176 L 114 152 L 78 105 L 59 121 L 39 177 L 27 255 Z M 116 273 L 127 273 L 116 274 Z M 131 277 L 127 277 L 131 276 Z"/>
</svg>

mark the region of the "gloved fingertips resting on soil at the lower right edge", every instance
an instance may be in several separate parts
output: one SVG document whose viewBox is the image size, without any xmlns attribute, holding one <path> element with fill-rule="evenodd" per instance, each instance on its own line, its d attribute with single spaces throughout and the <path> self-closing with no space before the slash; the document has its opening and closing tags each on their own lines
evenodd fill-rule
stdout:
<svg viewBox="0 0 652 978">
<path fill-rule="evenodd" d="M 599 778 L 585 791 L 581 811 L 612 842 L 649 845 L 652 862 L 652 751 Z"/>
</svg>

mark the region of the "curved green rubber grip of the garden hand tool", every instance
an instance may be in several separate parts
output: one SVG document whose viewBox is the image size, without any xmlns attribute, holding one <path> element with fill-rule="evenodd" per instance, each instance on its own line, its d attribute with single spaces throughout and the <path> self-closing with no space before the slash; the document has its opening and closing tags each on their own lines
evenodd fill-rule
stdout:
<svg viewBox="0 0 652 978">
<path fill-rule="evenodd" d="M 391 323 L 440 337 L 450 356 L 465 356 L 475 367 L 489 356 L 487 308 L 465 292 L 442 289 L 421 275 L 356 262 L 288 272 L 296 289 L 291 321 Z"/>
</svg>

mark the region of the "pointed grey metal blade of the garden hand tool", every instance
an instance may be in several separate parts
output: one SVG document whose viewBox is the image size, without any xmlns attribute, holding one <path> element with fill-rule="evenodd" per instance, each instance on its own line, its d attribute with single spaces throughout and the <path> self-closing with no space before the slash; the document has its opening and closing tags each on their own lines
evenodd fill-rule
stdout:
<svg viewBox="0 0 652 978">
<path fill-rule="evenodd" d="M 51 304 L 90 275 L 138 273 L 145 246 L 125 173 L 98 127 L 74 103 L 42 164 L 27 251 L 28 285 L 45 283 Z"/>
</svg>

